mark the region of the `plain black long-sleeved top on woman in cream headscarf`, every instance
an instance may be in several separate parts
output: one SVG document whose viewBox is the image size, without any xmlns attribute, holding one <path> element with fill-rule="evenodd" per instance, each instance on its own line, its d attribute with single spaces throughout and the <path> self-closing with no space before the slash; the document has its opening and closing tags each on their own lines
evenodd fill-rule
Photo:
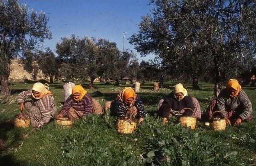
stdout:
<svg viewBox="0 0 256 166">
<path fill-rule="evenodd" d="M 179 111 L 184 108 L 190 108 L 194 110 L 194 104 L 192 101 L 192 97 L 190 95 L 186 95 L 183 99 L 180 101 L 174 97 L 174 93 L 170 93 L 166 99 L 164 99 L 164 102 L 162 103 L 159 112 L 160 116 L 163 118 L 168 118 L 170 113 L 173 113 L 174 115 L 178 115 Z"/>
</svg>

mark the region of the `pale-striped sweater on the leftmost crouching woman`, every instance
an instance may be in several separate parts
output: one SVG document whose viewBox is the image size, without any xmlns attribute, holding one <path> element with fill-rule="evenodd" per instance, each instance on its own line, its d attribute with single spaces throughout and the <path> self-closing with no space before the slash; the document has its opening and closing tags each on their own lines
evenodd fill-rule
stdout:
<svg viewBox="0 0 256 166">
<path fill-rule="evenodd" d="M 55 106 L 54 99 L 51 95 L 45 95 L 39 100 L 32 97 L 32 91 L 22 91 L 18 94 L 18 104 L 24 103 L 26 100 L 32 100 L 32 105 L 38 107 L 42 119 L 39 124 L 42 126 L 44 123 L 48 123 L 51 119 L 51 108 Z"/>
</svg>

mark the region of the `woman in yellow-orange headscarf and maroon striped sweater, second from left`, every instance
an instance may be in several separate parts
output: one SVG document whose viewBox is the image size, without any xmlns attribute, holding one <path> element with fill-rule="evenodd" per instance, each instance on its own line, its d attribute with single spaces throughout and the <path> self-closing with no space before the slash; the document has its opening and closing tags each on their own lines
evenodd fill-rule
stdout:
<svg viewBox="0 0 256 166">
<path fill-rule="evenodd" d="M 82 85 L 76 85 L 72 88 L 72 94 L 62 106 L 58 118 L 78 119 L 94 112 L 102 113 L 100 104 L 92 99 Z"/>
</svg>

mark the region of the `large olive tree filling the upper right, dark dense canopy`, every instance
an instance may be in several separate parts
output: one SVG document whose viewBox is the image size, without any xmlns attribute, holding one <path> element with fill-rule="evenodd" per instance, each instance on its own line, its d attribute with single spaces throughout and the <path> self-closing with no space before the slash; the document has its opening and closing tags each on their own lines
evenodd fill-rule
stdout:
<svg viewBox="0 0 256 166">
<path fill-rule="evenodd" d="M 255 53 L 256 4 L 252 0 L 152 0 L 130 38 L 142 55 L 155 53 L 175 71 L 192 77 L 211 69 L 218 95 L 221 82 L 239 74 Z M 194 75 L 194 76 L 193 76 Z"/>
</svg>

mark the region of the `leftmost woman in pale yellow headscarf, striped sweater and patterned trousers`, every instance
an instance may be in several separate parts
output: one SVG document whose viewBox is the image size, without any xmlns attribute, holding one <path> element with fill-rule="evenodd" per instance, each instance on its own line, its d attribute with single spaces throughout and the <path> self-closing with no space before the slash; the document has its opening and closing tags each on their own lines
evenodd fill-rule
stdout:
<svg viewBox="0 0 256 166">
<path fill-rule="evenodd" d="M 42 83 L 35 83 L 31 90 L 18 94 L 20 111 L 26 110 L 33 127 L 42 127 L 57 114 L 52 93 Z"/>
</svg>

